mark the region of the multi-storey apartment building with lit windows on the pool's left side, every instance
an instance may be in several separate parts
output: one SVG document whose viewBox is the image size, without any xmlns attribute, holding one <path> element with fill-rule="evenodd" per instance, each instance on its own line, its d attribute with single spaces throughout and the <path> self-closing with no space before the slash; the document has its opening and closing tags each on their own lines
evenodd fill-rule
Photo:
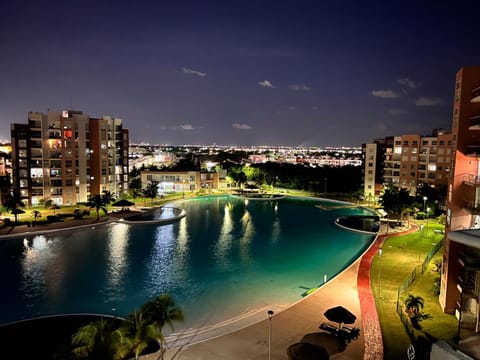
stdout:
<svg viewBox="0 0 480 360">
<path fill-rule="evenodd" d="M 11 124 L 12 185 L 29 205 L 72 205 L 102 191 L 119 195 L 128 189 L 128 143 L 118 118 L 29 112 L 27 124 Z"/>
</svg>

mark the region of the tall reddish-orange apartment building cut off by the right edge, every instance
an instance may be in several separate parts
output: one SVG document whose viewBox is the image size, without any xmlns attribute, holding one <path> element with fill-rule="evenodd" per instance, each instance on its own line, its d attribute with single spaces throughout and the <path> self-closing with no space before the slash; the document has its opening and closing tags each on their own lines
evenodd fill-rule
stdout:
<svg viewBox="0 0 480 360">
<path fill-rule="evenodd" d="M 455 79 L 453 166 L 447 191 L 440 305 L 476 332 L 480 302 L 480 66 Z M 459 327 L 460 329 L 460 327 Z"/>
</svg>

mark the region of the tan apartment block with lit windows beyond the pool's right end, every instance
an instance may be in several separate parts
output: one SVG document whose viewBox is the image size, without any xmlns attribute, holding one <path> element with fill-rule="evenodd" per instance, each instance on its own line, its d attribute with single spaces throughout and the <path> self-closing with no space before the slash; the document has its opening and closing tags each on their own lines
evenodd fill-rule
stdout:
<svg viewBox="0 0 480 360">
<path fill-rule="evenodd" d="M 363 144 L 365 196 L 378 196 L 379 189 L 389 186 L 411 195 L 424 185 L 447 186 L 452 139 L 450 132 L 436 129 L 430 136 L 405 134 Z"/>
</svg>

